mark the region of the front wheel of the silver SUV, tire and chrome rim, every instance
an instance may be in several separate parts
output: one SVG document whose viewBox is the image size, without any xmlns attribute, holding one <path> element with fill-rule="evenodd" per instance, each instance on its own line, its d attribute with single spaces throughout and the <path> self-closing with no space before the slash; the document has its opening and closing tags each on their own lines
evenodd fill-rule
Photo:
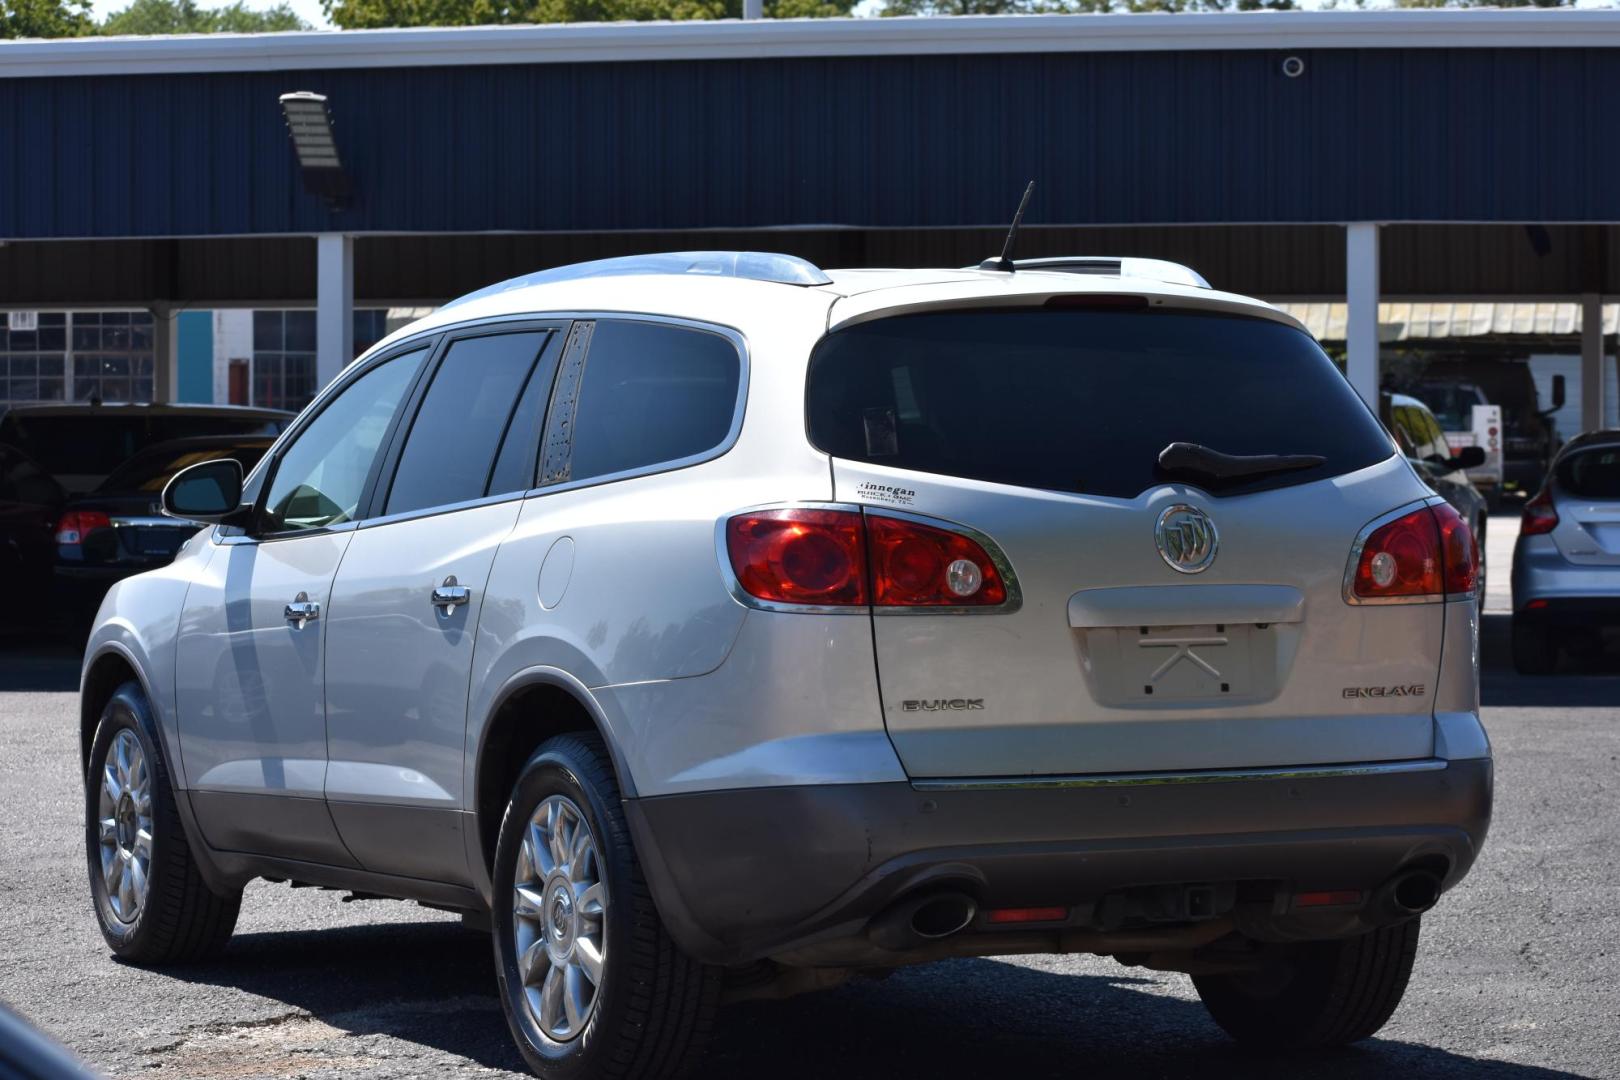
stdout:
<svg viewBox="0 0 1620 1080">
<path fill-rule="evenodd" d="M 84 855 L 96 920 L 120 959 L 201 960 L 230 941 L 241 894 L 215 895 L 198 873 L 157 724 L 134 682 L 113 691 L 96 725 L 84 777 Z"/>
</svg>

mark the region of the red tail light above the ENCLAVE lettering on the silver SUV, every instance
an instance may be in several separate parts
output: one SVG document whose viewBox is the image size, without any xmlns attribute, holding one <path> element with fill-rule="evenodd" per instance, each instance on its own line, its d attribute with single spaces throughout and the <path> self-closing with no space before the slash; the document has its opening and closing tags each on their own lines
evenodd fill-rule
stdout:
<svg viewBox="0 0 1620 1080">
<path fill-rule="evenodd" d="M 1473 593 L 1477 580 L 1474 533 L 1456 510 L 1442 502 L 1385 521 L 1361 541 L 1349 599 L 1443 599 Z"/>
</svg>

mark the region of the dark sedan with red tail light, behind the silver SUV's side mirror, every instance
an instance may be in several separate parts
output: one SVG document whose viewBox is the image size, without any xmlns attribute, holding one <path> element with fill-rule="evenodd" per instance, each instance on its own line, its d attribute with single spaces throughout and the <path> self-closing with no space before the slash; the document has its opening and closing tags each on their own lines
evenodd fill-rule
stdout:
<svg viewBox="0 0 1620 1080">
<path fill-rule="evenodd" d="M 232 458 L 251 470 L 274 439 L 207 436 L 141 450 L 96 487 L 68 499 L 55 523 L 57 596 L 78 620 L 89 619 L 107 588 L 131 573 L 162 567 L 198 531 L 164 517 L 164 487 L 183 468 Z"/>
</svg>

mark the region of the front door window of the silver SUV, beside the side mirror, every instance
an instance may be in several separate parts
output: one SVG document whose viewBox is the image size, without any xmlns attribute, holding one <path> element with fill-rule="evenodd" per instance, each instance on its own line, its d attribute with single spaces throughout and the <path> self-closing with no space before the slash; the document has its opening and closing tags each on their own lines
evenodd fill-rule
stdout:
<svg viewBox="0 0 1620 1080">
<path fill-rule="evenodd" d="M 394 411 L 428 350 L 386 359 L 321 410 L 275 463 L 264 531 L 353 521 Z"/>
</svg>

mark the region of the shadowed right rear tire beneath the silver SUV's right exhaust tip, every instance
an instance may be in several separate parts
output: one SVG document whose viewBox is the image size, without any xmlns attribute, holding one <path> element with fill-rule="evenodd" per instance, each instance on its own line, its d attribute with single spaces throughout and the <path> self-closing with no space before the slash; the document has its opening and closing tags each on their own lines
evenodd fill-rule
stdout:
<svg viewBox="0 0 1620 1080">
<path fill-rule="evenodd" d="M 1382 1028 L 1401 1004 L 1421 918 L 1345 941 L 1273 946 L 1256 975 L 1194 975 L 1226 1035 L 1267 1049 L 1343 1046 Z"/>
</svg>

